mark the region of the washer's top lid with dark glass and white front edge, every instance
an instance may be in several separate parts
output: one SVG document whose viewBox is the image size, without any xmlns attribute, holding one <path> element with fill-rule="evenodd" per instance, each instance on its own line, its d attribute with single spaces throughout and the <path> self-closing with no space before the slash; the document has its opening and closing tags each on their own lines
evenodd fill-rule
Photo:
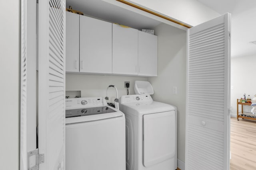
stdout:
<svg viewBox="0 0 256 170">
<path fill-rule="evenodd" d="M 66 110 L 66 124 L 87 121 L 96 121 L 122 116 L 122 112 L 113 107 L 90 107 Z"/>
</svg>

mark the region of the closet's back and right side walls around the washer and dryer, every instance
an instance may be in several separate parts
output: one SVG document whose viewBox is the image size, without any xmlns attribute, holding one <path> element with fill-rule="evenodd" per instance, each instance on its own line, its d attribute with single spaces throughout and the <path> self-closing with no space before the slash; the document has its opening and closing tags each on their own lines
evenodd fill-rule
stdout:
<svg viewBox="0 0 256 170">
<path fill-rule="evenodd" d="M 158 77 L 110 76 L 90 74 L 66 74 L 66 91 L 80 91 L 82 97 L 106 96 L 112 84 L 118 96 L 126 95 L 124 81 L 130 81 L 130 92 L 134 94 L 135 80 L 148 80 L 154 88 L 154 100 L 178 107 L 178 159 L 185 161 L 185 99 L 186 99 L 186 31 L 162 23 L 155 29 L 158 35 Z M 177 94 L 172 94 L 172 87 Z M 108 97 L 115 98 L 114 88 Z"/>
</svg>

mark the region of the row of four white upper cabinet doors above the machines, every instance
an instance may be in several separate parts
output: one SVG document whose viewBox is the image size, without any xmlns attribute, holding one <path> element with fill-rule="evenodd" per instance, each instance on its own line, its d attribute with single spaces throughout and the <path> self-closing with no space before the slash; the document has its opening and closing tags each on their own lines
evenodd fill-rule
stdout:
<svg viewBox="0 0 256 170">
<path fill-rule="evenodd" d="M 66 12 L 66 72 L 157 76 L 158 37 Z"/>
</svg>

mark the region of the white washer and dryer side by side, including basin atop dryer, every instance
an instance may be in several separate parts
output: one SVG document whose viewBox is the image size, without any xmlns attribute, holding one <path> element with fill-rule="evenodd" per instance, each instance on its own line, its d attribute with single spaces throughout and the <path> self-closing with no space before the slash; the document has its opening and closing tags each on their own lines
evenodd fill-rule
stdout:
<svg viewBox="0 0 256 170">
<path fill-rule="evenodd" d="M 102 97 L 66 99 L 66 170 L 177 169 L 176 107 L 153 101 L 149 82 L 134 91 L 120 110 Z"/>
</svg>

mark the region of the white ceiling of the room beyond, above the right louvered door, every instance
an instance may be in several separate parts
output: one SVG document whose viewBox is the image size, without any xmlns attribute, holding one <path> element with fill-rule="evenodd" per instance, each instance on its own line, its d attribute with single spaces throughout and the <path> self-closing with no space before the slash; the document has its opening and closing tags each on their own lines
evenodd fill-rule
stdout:
<svg viewBox="0 0 256 170">
<path fill-rule="evenodd" d="M 231 57 L 256 57 L 256 0 L 197 0 L 219 14 L 231 13 Z"/>
</svg>

